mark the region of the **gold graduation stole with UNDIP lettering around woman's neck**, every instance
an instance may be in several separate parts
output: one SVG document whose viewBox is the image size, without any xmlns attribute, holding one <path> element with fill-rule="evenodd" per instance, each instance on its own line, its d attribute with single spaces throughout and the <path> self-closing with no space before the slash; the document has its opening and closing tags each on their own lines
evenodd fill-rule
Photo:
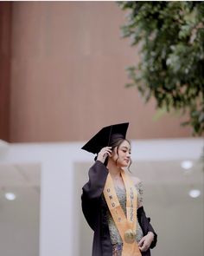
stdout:
<svg viewBox="0 0 204 256">
<path fill-rule="evenodd" d="M 111 174 L 108 174 L 105 182 L 104 195 L 112 219 L 118 228 L 118 233 L 123 240 L 122 256 L 142 256 L 136 241 L 137 228 L 137 190 L 131 179 L 121 170 L 121 175 L 124 181 L 126 190 L 126 213 L 120 206 L 118 196 L 112 181 Z"/>
</svg>

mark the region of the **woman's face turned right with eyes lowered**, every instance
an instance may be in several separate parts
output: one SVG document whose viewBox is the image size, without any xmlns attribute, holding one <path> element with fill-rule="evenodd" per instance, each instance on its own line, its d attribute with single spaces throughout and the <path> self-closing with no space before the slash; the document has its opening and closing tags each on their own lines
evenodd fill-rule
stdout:
<svg viewBox="0 0 204 256">
<path fill-rule="evenodd" d="M 128 141 L 123 141 L 117 148 L 113 149 L 113 161 L 117 161 L 118 167 L 128 167 L 131 160 L 131 145 Z"/>
</svg>

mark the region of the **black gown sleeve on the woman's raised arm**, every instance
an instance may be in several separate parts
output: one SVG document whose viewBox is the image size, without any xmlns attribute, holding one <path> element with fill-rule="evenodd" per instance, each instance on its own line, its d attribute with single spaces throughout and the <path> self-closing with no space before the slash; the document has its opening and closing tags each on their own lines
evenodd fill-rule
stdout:
<svg viewBox="0 0 204 256">
<path fill-rule="evenodd" d="M 105 187 L 108 169 L 101 161 L 95 161 L 89 169 L 89 181 L 82 187 L 82 211 L 87 223 L 95 230 L 100 211 L 100 200 Z"/>
</svg>

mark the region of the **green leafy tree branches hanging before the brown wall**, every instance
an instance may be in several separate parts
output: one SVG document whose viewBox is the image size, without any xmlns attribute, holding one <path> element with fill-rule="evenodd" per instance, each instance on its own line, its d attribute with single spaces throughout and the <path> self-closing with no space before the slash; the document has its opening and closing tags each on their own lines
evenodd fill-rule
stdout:
<svg viewBox="0 0 204 256">
<path fill-rule="evenodd" d="M 188 114 L 182 125 L 204 131 L 204 2 L 118 2 L 126 11 L 121 27 L 140 62 L 127 69 L 145 102 Z"/>
</svg>

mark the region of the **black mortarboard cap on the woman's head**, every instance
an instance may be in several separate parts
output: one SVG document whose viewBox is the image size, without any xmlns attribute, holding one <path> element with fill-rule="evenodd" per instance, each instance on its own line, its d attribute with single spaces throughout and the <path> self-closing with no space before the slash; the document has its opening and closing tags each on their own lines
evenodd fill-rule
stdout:
<svg viewBox="0 0 204 256">
<path fill-rule="evenodd" d="M 93 154 L 98 154 L 101 148 L 110 145 L 112 135 L 117 135 L 125 139 L 128 125 L 129 122 L 124 122 L 102 128 L 99 130 L 99 133 L 94 135 L 81 149 Z"/>
</svg>

